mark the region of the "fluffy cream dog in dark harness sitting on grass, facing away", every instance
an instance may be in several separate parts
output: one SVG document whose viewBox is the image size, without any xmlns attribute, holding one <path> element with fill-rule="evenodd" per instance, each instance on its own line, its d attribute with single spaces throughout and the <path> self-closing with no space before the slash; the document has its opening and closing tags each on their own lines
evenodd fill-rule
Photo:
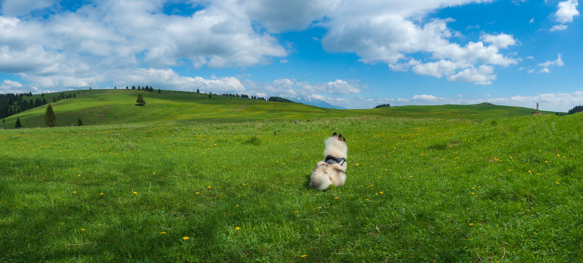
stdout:
<svg viewBox="0 0 583 263">
<path fill-rule="evenodd" d="M 346 139 L 342 134 L 332 134 L 332 137 L 326 139 L 324 148 L 324 161 L 319 161 L 310 180 L 310 186 L 314 189 L 325 190 L 334 184 L 342 186 L 346 180 L 346 157 L 347 147 Z"/>
</svg>

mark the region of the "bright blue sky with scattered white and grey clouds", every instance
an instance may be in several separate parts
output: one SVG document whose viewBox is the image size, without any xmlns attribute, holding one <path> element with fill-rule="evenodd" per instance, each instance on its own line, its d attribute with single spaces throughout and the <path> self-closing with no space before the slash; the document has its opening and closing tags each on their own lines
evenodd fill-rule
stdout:
<svg viewBox="0 0 583 263">
<path fill-rule="evenodd" d="M 0 0 L 0 93 L 583 105 L 578 0 Z"/>
</svg>

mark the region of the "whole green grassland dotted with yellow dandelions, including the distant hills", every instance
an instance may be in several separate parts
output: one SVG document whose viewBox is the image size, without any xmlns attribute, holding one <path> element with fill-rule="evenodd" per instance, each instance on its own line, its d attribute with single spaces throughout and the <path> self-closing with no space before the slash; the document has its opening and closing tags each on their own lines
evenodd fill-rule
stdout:
<svg viewBox="0 0 583 263">
<path fill-rule="evenodd" d="M 583 261 L 583 113 L 74 92 L 0 131 L 0 262 Z"/>
</svg>

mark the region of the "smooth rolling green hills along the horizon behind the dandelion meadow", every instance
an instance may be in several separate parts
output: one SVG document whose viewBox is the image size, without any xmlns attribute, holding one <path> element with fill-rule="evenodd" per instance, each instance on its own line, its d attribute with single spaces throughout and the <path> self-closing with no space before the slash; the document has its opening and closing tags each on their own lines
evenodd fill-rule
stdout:
<svg viewBox="0 0 583 263">
<path fill-rule="evenodd" d="M 158 94 L 139 90 L 76 90 L 65 91 L 75 98 L 61 99 L 51 105 L 57 113 L 58 126 L 76 125 L 78 118 L 84 125 L 106 125 L 145 122 L 196 122 L 220 119 L 223 122 L 264 119 L 311 119 L 350 116 L 395 116 L 410 118 L 469 119 L 483 122 L 490 118 L 529 115 L 533 109 L 501 106 L 489 103 L 477 105 L 398 106 L 380 109 L 323 109 L 316 106 L 259 101 L 250 98 L 197 94 L 187 91 L 164 90 Z M 142 93 L 146 105 L 135 101 Z M 45 94 L 50 102 L 54 95 Z M 27 99 L 36 99 L 33 95 Z M 14 127 L 20 118 L 23 127 L 45 127 L 46 106 L 29 109 L 6 118 L 6 126 Z M 544 112 L 554 114 L 555 112 Z"/>
</svg>

